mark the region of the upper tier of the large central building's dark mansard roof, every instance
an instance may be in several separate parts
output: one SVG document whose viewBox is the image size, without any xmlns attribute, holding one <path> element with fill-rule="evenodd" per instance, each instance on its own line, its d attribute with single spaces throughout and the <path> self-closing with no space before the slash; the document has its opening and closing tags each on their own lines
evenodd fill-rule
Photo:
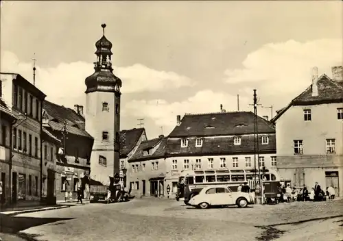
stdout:
<svg viewBox="0 0 343 241">
<path fill-rule="evenodd" d="M 255 114 L 252 112 L 220 112 L 209 114 L 186 114 L 169 137 L 231 136 L 253 134 Z M 257 116 L 259 133 L 275 133 L 270 121 Z"/>
</svg>

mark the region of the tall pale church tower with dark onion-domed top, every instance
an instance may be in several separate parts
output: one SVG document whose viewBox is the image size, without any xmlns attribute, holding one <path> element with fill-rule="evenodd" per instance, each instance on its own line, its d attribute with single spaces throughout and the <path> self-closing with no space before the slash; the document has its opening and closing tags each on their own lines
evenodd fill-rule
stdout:
<svg viewBox="0 0 343 241">
<path fill-rule="evenodd" d="M 86 77 L 86 131 L 94 138 L 91 178 L 107 184 L 119 175 L 120 88 L 121 79 L 113 74 L 112 43 L 103 36 L 96 43 L 95 73 Z M 117 181 L 115 181 L 117 182 Z"/>
</svg>

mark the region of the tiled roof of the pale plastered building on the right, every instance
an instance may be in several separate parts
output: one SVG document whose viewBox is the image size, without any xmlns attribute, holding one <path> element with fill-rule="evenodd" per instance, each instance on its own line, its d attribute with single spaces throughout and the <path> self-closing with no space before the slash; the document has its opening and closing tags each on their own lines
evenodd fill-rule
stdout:
<svg viewBox="0 0 343 241">
<path fill-rule="evenodd" d="M 312 96 L 312 84 L 305 91 L 272 118 L 273 123 L 285 113 L 289 107 L 294 105 L 319 105 L 324 103 L 342 103 L 343 102 L 343 82 L 338 82 L 323 74 L 318 78 L 318 96 Z"/>
</svg>

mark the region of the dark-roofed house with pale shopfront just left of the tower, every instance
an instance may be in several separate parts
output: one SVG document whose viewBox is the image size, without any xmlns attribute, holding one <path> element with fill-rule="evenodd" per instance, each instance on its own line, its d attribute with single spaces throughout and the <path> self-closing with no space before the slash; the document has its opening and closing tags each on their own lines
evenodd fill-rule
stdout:
<svg viewBox="0 0 343 241">
<path fill-rule="evenodd" d="M 88 197 L 88 178 L 91 172 L 91 150 L 94 139 L 84 129 L 83 107 L 76 105 L 75 110 L 56 105 L 49 101 L 43 103 L 43 126 L 54 138 L 47 146 L 47 159 L 53 151 L 56 155 L 55 195 L 57 201 L 77 199 L 78 188 Z M 53 140 L 60 140 L 54 149 Z M 55 142 L 58 144 L 57 142 Z M 53 149 L 51 149 L 51 147 Z M 48 164 L 52 162 L 47 162 Z M 48 180 L 47 180 L 48 181 Z"/>
</svg>

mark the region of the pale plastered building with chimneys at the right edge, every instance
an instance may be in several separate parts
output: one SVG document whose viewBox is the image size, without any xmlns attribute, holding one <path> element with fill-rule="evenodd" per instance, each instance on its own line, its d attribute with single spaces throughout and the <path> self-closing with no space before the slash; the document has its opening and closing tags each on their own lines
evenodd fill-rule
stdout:
<svg viewBox="0 0 343 241">
<path fill-rule="evenodd" d="M 333 78 L 314 68 L 312 84 L 272 120 L 276 125 L 277 168 L 294 186 L 335 188 L 343 195 L 342 66 Z M 292 130 L 292 131 L 290 131 Z"/>
</svg>

